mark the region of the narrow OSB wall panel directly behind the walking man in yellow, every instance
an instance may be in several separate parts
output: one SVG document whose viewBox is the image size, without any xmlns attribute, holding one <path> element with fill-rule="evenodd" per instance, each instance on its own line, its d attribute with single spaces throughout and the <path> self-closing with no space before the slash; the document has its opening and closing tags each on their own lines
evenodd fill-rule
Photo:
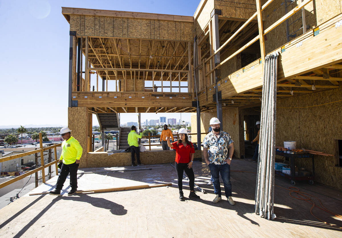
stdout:
<svg viewBox="0 0 342 238">
<path fill-rule="evenodd" d="M 87 108 L 68 108 L 68 127 L 73 136 L 82 146 L 80 168 L 87 167 Z"/>
</svg>

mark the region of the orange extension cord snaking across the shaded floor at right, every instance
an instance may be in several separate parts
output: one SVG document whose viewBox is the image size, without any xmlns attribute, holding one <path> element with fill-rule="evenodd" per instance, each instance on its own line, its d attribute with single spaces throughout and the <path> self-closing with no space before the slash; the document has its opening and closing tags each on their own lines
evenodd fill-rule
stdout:
<svg viewBox="0 0 342 238">
<path fill-rule="evenodd" d="M 231 172 L 242 172 L 242 173 L 254 173 L 254 174 L 257 174 L 256 172 L 251 172 L 251 171 L 231 170 Z M 309 204 L 311 204 L 312 207 L 310 208 L 310 213 L 311 213 L 311 215 L 312 215 L 314 218 L 316 218 L 317 220 L 319 220 L 319 221 L 321 221 L 321 222 L 323 222 L 323 223 L 325 223 L 325 224 L 327 224 L 327 225 L 330 225 L 330 226 L 332 226 L 332 227 L 335 227 L 335 228 L 338 228 L 338 229 L 342 229 L 341 226 L 337 226 L 337 225 L 334 225 L 334 224 L 330 224 L 330 223 L 328 223 L 328 222 L 325 222 L 325 221 L 319 219 L 317 216 L 315 216 L 315 215 L 312 213 L 312 209 L 313 209 L 314 207 L 317 207 L 317 208 L 319 208 L 319 209 L 321 209 L 321 210 L 323 210 L 323 211 L 325 211 L 325 212 L 328 212 L 328 213 L 330 213 L 330 214 L 336 216 L 337 218 L 342 219 L 342 215 L 336 214 L 336 213 L 334 213 L 334 212 L 332 212 L 332 211 L 326 209 L 326 208 L 323 206 L 323 204 L 322 204 L 322 202 L 321 202 L 321 200 L 320 200 L 319 198 L 317 198 L 317 197 L 315 197 L 315 196 L 313 196 L 313 195 L 311 195 L 311 194 L 308 194 L 308 193 L 305 193 L 305 192 L 301 192 L 301 191 L 299 191 L 299 188 L 297 188 L 297 187 L 288 187 L 288 188 L 285 188 L 285 187 L 282 187 L 282 186 L 279 186 L 279 185 L 275 185 L 275 186 L 290 191 L 290 192 L 289 192 L 289 195 L 290 195 L 291 197 L 293 197 L 293 198 L 295 198 L 295 199 L 299 199 L 299 200 L 304 200 L 304 201 L 308 202 Z M 291 189 L 291 188 L 297 189 L 297 190 L 293 190 L 293 189 Z M 292 196 L 291 193 L 295 193 L 295 194 L 297 195 L 297 197 Z M 305 195 L 304 195 L 304 194 L 305 194 Z M 306 195 L 307 195 L 307 196 L 306 196 Z M 302 197 L 301 197 L 301 196 L 302 196 Z M 317 206 L 317 205 L 315 204 L 315 202 L 314 202 L 313 200 L 311 200 L 311 198 L 310 198 L 309 196 L 316 198 L 316 199 L 319 201 L 319 204 L 320 204 L 322 207 Z"/>
</svg>

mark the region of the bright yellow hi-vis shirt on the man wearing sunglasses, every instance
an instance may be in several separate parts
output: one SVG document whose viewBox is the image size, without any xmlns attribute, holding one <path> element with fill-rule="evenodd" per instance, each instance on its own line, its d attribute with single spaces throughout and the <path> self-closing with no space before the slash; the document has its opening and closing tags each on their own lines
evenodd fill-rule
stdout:
<svg viewBox="0 0 342 238">
<path fill-rule="evenodd" d="M 72 136 L 66 141 L 62 142 L 62 154 L 60 160 L 66 165 L 73 164 L 76 159 L 80 159 L 82 156 L 82 146 L 80 143 Z"/>
</svg>

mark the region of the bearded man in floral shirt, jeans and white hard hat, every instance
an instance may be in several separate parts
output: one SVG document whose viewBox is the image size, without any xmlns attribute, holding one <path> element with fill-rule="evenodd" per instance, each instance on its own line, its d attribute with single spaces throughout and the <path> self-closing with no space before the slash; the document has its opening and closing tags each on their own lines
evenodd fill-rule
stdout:
<svg viewBox="0 0 342 238">
<path fill-rule="evenodd" d="M 220 121 L 213 117 L 210 120 L 212 131 L 203 140 L 203 156 L 209 166 L 213 177 L 214 193 L 213 203 L 222 200 L 219 174 L 223 180 L 224 191 L 230 205 L 235 205 L 232 198 L 231 161 L 234 152 L 234 141 L 231 136 L 220 130 Z M 228 155 L 229 153 L 229 155 Z M 209 155 L 209 158 L 208 158 Z"/>
</svg>

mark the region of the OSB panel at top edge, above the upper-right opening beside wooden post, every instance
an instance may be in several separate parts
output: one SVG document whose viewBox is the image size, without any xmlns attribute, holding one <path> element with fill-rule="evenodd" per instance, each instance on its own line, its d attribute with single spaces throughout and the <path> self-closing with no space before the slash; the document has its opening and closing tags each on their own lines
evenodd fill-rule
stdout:
<svg viewBox="0 0 342 238">
<path fill-rule="evenodd" d="M 257 11 L 255 0 L 215 0 L 215 9 L 222 10 L 225 17 L 248 19 Z"/>
</svg>

